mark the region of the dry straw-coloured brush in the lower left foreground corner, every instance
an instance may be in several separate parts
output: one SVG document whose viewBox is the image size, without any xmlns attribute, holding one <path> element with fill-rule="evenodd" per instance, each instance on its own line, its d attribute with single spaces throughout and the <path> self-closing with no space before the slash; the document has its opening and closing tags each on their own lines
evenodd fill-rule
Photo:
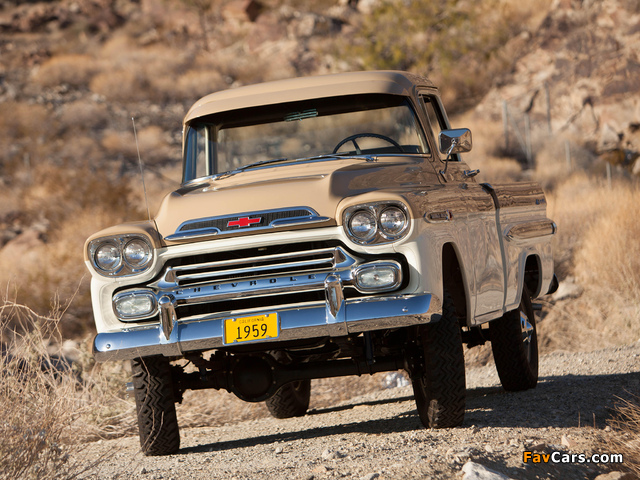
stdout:
<svg viewBox="0 0 640 480">
<path fill-rule="evenodd" d="M 0 478 L 91 478 L 104 459 L 87 461 L 84 443 L 112 436 L 114 426 L 130 432 L 132 405 L 105 394 L 102 375 L 83 378 L 77 362 L 48 351 L 52 342 L 61 344 L 62 313 L 57 307 L 45 317 L 0 303 Z"/>
</svg>

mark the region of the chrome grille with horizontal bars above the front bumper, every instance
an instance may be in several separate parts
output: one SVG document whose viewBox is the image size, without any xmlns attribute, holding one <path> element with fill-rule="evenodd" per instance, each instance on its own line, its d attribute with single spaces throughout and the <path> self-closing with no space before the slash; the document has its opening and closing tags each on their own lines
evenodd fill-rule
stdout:
<svg viewBox="0 0 640 480">
<path fill-rule="evenodd" d="M 388 260 L 401 259 L 389 255 Z M 162 275 L 140 288 L 171 305 L 178 321 L 227 318 L 326 306 L 333 284 L 344 289 L 344 298 L 375 295 L 355 284 L 354 272 L 363 262 L 338 242 L 194 253 L 168 260 Z"/>
</svg>

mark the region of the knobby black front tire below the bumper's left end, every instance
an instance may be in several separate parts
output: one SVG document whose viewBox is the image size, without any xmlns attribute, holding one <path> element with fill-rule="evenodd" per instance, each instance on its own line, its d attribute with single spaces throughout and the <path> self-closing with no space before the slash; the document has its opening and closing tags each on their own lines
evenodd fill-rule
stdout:
<svg viewBox="0 0 640 480">
<path fill-rule="evenodd" d="M 180 448 L 171 366 L 164 357 L 131 361 L 140 446 L 147 456 L 169 455 Z"/>
</svg>

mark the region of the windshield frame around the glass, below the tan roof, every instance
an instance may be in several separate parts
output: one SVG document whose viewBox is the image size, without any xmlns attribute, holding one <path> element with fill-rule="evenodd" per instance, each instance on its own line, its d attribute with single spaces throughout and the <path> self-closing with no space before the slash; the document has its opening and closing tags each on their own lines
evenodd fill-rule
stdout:
<svg viewBox="0 0 640 480">
<path fill-rule="evenodd" d="M 409 116 L 412 122 L 412 131 L 416 135 L 416 140 L 419 143 L 417 145 L 418 151 L 416 152 L 394 152 L 394 153 L 331 153 L 331 154 L 319 154 L 319 155 L 298 155 L 295 158 L 272 158 L 270 160 L 257 161 L 254 163 L 247 163 L 236 168 L 225 169 L 224 171 L 218 171 L 218 162 L 215 155 L 212 153 L 215 151 L 215 142 L 211 138 L 211 130 L 214 126 L 217 129 L 216 133 L 220 130 L 232 129 L 244 126 L 255 126 L 262 124 L 274 123 L 283 121 L 290 121 L 287 119 L 291 115 L 291 112 L 305 112 L 314 111 L 315 115 L 310 115 L 309 118 L 315 116 L 332 116 L 348 113 L 360 113 L 369 110 L 381 110 L 393 107 L 406 107 L 408 109 Z M 302 119 L 307 118 L 305 116 Z M 295 120 L 301 120 L 296 118 Z M 208 128 L 204 128 L 203 125 L 209 125 Z M 198 134 L 197 130 L 202 128 L 202 133 Z M 371 93 L 371 94 L 358 94 L 358 95 L 345 95 L 337 97 L 327 97 L 319 99 L 310 99 L 297 102 L 288 102 L 272 105 L 264 105 L 258 107 L 249 107 L 238 110 L 229 110 L 224 112 L 218 112 L 204 117 L 197 117 L 191 119 L 184 126 L 183 136 L 183 175 L 182 184 L 187 185 L 194 182 L 200 182 L 202 180 L 211 178 L 221 178 L 230 176 L 231 174 L 240 173 L 249 169 L 262 169 L 273 168 L 281 165 L 290 165 L 295 162 L 308 162 L 313 161 L 328 161 L 338 158 L 363 158 L 367 161 L 371 161 L 372 157 L 431 157 L 431 147 L 427 133 L 424 131 L 420 115 L 416 110 L 416 106 L 412 101 L 412 98 L 407 95 L 397 95 L 389 93 Z M 204 142 L 203 152 L 204 158 L 204 174 L 198 172 L 198 160 L 197 155 L 192 151 L 196 141 L 200 143 Z M 200 165 L 202 170 L 202 165 Z"/>
</svg>

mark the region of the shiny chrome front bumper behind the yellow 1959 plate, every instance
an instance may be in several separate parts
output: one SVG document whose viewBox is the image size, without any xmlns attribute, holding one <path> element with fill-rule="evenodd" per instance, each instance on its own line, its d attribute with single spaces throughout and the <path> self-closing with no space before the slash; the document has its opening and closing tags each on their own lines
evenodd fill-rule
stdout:
<svg viewBox="0 0 640 480">
<path fill-rule="evenodd" d="M 256 312 L 270 313 L 270 312 Z M 259 343 L 337 337 L 365 331 L 428 323 L 439 318 L 440 301 L 431 294 L 387 295 L 366 299 L 329 299 L 325 305 L 278 310 L 280 333 Z M 96 335 L 97 361 L 127 360 L 150 355 L 179 357 L 186 352 L 224 348 L 224 320 L 230 316 L 178 322 L 170 328 L 152 325 Z M 245 342 L 243 342 L 245 343 Z M 249 343 L 249 342 L 246 342 Z M 255 342 L 254 342 L 255 343 Z M 237 344 L 233 344 L 237 345 Z M 268 349 L 268 347 L 265 347 Z"/>
</svg>

